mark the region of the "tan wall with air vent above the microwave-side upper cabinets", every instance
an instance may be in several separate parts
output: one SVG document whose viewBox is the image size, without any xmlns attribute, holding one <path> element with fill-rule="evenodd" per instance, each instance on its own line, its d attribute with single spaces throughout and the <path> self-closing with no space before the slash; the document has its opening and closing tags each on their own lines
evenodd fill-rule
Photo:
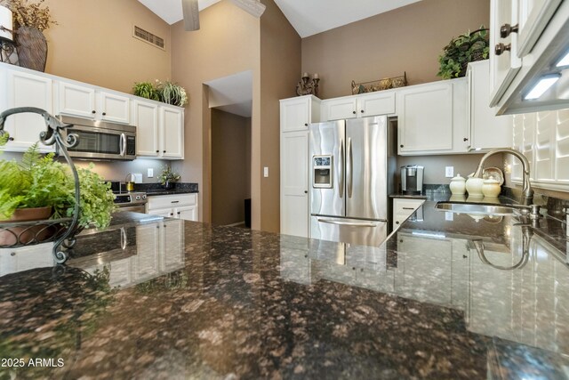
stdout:
<svg viewBox="0 0 569 380">
<path fill-rule="evenodd" d="M 170 26 L 137 0 L 46 0 L 59 25 L 45 30 L 45 71 L 132 93 L 134 82 L 172 77 Z M 132 37 L 137 25 L 166 50 Z"/>
</svg>

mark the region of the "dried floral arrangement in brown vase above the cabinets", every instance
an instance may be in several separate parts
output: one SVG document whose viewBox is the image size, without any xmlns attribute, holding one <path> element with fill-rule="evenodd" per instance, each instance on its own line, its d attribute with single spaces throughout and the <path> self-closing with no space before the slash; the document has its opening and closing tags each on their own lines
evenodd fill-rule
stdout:
<svg viewBox="0 0 569 380">
<path fill-rule="evenodd" d="M 33 27 L 40 31 L 49 28 L 50 25 L 57 25 L 52 20 L 52 14 L 48 6 L 42 7 L 45 0 L 37 3 L 30 3 L 28 0 L 0 0 L 0 5 L 4 5 L 13 13 L 14 28 Z"/>
</svg>

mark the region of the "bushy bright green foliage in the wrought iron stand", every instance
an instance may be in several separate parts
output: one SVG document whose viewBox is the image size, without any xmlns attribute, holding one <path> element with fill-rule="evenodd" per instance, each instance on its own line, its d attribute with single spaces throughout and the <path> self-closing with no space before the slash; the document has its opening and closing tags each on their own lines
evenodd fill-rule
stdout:
<svg viewBox="0 0 569 380">
<path fill-rule="evenodd" d="M 76 205 L 73 174 L 68 166 L 53 157 L 53 153 L 42 156 L 37 144 L 34 144 L 24 153 L 21 162 L 0 160 L 0 220 L 26 220 L 21 219 L 20 214 L 32 214 L 31 220 L 60 219 L 73 215 Z M 110 184 L 104 182 L 92 168 L 91 164 L 77 169 L 79 229 L 87 226 L 107 227 L 115 207 Z M 39 209 L 47 214 L 38 214 Z M 14 233 L 4 232 L 8 232 L 9 238 L 12 236 L 10 239 L 15 239 Z M 5 239 L 4 236 L 4 242 L 0 244 L 14 244 L 7 243 Z"/>
</svg>

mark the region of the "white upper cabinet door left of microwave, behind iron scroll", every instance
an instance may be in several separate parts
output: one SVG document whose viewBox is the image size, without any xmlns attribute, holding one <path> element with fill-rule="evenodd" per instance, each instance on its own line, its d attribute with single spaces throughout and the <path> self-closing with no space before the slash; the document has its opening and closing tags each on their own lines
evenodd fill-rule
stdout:
<svg viewBox="0 0 569 380">
<path fill-rule="evenodd" d="M 0 100 L 3 109 L 15 107 L 36 107 L 53 113 L 52 79 L 40 77 L 20 71 L 6 70 L 0 73 L 3 85 L 0 91 L 5 94 Z M 4 150 L 25 151 L 36 141 L 39 133 L 47 130 L 44 117 L 34 113 L 21 113 L 6 119 L 4 130 L 10 133 L 9 141 Z M 13 140 L 12 140 L 13 139 Z M 54 151 L 54 146 L 39 144 L 44 152 Z"/>
</svg>

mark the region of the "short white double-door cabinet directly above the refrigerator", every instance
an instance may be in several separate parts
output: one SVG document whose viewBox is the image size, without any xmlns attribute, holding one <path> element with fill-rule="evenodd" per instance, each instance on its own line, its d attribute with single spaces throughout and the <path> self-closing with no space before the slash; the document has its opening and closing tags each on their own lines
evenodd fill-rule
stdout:
<svg viewBox="0 0 569 380">
<path fill-rule="evenodd" d="M 381 91 L 362 95 L 344 96 L 322 101 L 325 120 L 391 115 L 395 113 L 395 91 Z"/>
</svg>

